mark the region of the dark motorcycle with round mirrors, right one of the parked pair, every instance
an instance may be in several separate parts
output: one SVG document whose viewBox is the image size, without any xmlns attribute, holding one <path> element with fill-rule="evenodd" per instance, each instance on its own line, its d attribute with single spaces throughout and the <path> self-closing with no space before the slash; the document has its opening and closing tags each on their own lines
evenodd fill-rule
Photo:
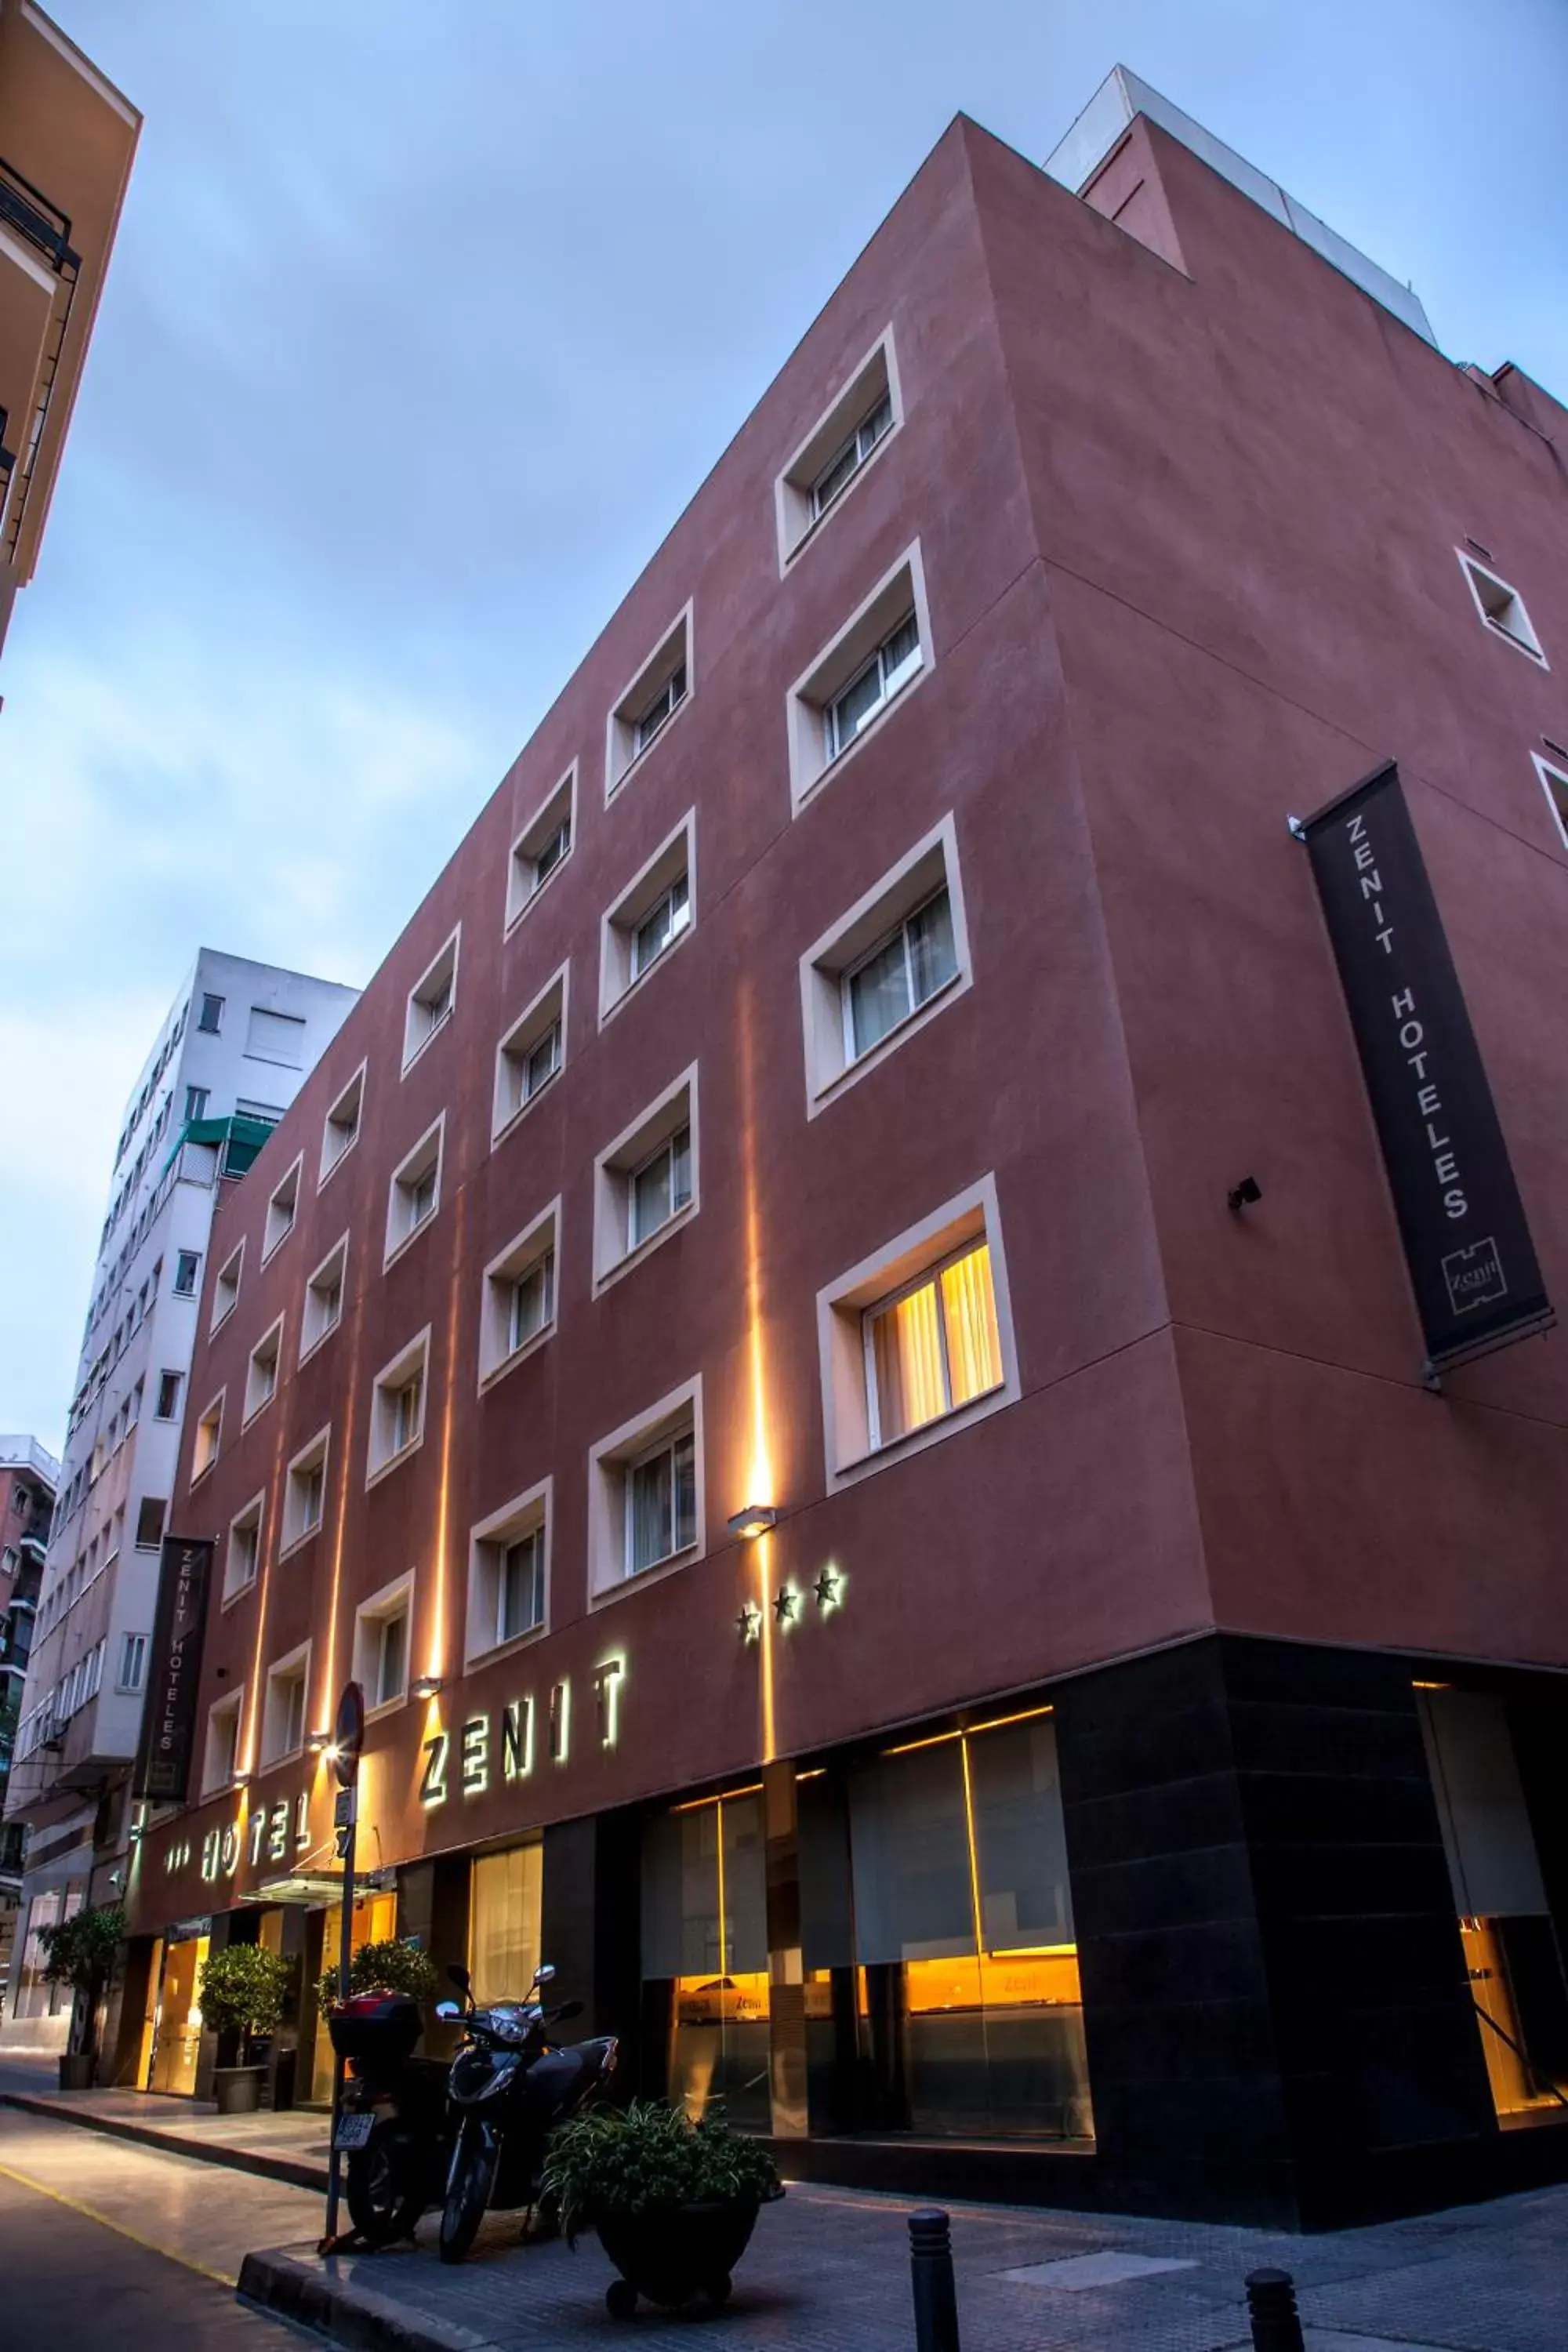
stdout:
<svg viewBox="0 0 1568 2352">
<path fill-rule="evenodd" d="M 463 2023 L 463 2049 L 451 2060 L 447 2103 L 451 2164 L 442 2204 L 440 2256 L 461 2263 L 484 2213 L 538 2204 L 545 2140 L 555 2124 L 595 2098 L 616 2070 L 616 2037 L 559 2046 L 555 2025 L 583 2013 L 581 2002 L 545 2009 L 538 1990 L 555 1978 L 545 1962 L 534 1971 L 529 1999 L 477 2009 L 468 1969 L 447 1969 L 463 1994 L 440 2002 L 437 2018 Z"/>
</svg>

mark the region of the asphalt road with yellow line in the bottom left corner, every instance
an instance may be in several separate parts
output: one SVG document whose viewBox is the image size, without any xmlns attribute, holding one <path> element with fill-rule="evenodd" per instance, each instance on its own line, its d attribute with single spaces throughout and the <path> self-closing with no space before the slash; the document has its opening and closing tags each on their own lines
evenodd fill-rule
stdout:
<svg viewBox="0 0 1568 2352">
<path fill-rule="evenodd" d="M 235 2277 L 252 2246 L 320 2225 L 308 2190 L 0 2107 L 0 2352 L 299 2347 L 235 2303 Z"/>
</svg>

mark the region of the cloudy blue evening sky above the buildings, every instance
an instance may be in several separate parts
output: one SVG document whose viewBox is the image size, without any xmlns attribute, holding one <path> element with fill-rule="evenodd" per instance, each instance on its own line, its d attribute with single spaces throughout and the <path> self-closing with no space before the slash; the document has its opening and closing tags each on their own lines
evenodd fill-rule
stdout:
<svg viewBox="0 0 1568 2352">
<path fill-rule="evenodd" d="M 1563 0 L 52 0 L 146 132 L 0 715 L 0 1430 L 197 946 L 364 981 L 966 108 L 1124 59 L 1568 388 Z M 310 844 L 310 856 L 303 856 Z"/>
</svg>

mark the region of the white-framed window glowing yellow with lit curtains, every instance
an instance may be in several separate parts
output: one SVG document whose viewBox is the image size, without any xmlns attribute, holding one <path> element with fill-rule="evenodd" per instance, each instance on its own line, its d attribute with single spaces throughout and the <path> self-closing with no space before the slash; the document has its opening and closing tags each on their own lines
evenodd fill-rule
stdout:
<svg viewBox="0 0 1568 2352">
<path fill-rule="evenodd" d="M 849 1268 L 816 1308 L 830 1491 L 1011 1404 L 994 1176 Z"/>
</svg>

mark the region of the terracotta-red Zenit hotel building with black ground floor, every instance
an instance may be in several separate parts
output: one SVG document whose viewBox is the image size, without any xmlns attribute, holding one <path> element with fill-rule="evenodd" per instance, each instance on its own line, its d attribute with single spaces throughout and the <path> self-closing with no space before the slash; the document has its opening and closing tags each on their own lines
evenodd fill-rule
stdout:
<svg viewBox="0 0 1568 2352">
<path fill-rule="evenodd" d="M 205 2082 L 205 1940 L 331 1957 L 357 1677 L 355 1933 L 543 1952 L 797 2176 L 1563 2169 L 1566 456 L 1131 75 L 1046 169 L 947 129 L 219 1207 L 120 2079 Z M 1490 1136 L 1537 1256 L 1490 1352 L 1319 873 L 1366 776 L 1441 1214 Z"/>
</svg>

